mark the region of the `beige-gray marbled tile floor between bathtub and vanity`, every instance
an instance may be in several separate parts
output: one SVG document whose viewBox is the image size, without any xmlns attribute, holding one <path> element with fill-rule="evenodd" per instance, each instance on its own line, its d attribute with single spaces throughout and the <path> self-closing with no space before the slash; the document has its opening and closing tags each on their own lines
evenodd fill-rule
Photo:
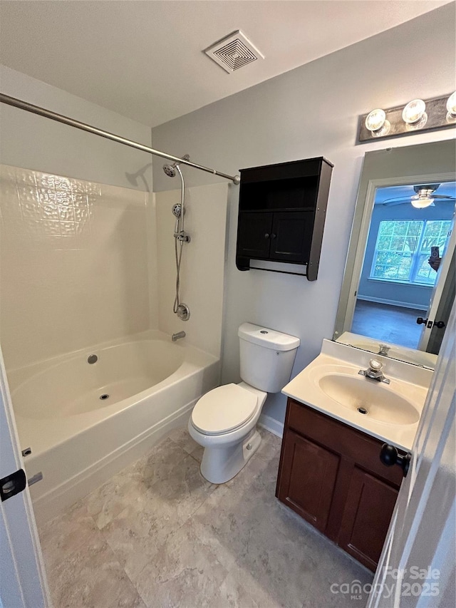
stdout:
<svg viewBox="0 0 456 608">
<path fill-rule="evenodd" d="M 174 431 L 148 455 L 43 525 L 54 608 L 362 607 L 331 584 L 372 574 L 274 496 L 280 439 L 224 485 Z"/>
</svg>

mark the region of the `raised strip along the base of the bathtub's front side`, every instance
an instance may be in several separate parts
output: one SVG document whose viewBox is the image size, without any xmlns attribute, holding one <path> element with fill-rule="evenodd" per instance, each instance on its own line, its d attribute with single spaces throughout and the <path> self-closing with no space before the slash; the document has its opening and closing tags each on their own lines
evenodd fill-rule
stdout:
<svg viewBox="0 0 456 608">
<path fill-rule="evenodd" d="M 197 399 L 191 401 L 172 416 L 160 421 L 128 443 L 120 445 L 90 467 L 33 500 L 33 511 L 38 526 L 60 515 L 66 508 L 141 458 L 174 428 L 185 426 L 196 402 Z"/>
</svg>

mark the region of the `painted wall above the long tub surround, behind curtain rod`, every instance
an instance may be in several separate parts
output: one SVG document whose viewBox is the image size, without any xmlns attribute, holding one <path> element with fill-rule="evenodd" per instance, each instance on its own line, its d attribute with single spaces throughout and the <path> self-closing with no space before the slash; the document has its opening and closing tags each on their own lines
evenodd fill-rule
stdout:
<svg viewBox="0 0 456 608">
<path fill-rule="evenodd" d="M 150 145 L 150 127 L 0 66 L 0 90 L 11 97 Z M 0 163 L 66 177 L 152 190 L 150 155 L 0 103 Z M 127 173 L 145 168 L 134 186 Z"/>
</svg>

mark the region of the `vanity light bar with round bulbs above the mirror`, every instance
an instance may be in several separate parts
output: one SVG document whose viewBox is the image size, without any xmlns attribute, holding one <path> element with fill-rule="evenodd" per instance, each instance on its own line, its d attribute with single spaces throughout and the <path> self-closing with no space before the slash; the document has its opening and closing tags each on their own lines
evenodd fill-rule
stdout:
<svg viewBox="0 0 456 608">
<path fill-rule="evenodd" d="M 358 143 L 454 127 L 456 92 L 432 99 L 416 98 L 388 110 L 376 108 L 360 118 Z"/>
</svg>

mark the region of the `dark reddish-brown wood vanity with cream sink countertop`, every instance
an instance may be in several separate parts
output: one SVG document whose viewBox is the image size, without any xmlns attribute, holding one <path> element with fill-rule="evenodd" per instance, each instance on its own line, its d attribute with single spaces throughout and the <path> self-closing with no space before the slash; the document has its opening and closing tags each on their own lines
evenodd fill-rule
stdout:
<svg viewBox="0 0 456 608">
<path fill-rule="evenodd" d="M 384 361 L 390 384 L 358 374 L 368 353 L 325 340 L 321 354 L 284 388 L 276 487 L 282 503 L 373 571 L 403 480 L 400 467 L 380 461 L 380 450 L 383 443 L 401 455 L 410 450 L 432 375 L 376 359 Z"/>
</svg>

